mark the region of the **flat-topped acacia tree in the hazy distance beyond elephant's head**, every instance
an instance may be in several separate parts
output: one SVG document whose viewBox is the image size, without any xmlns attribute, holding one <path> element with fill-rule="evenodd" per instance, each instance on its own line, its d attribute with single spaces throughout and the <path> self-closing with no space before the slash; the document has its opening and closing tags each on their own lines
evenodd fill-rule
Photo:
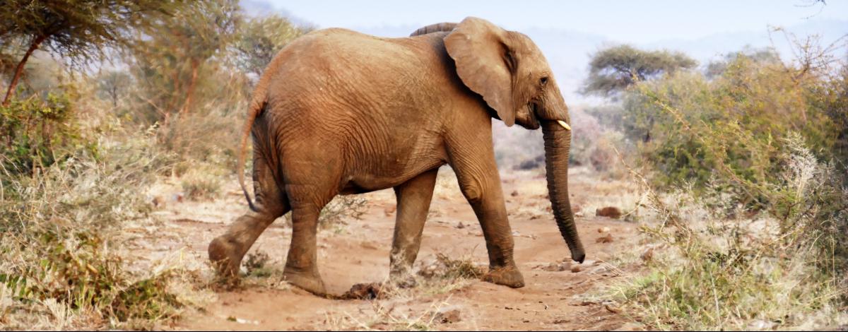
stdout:
<svg viewBox="0 0 848 332">
<path fill-rule="evenodd" d="M 639 80 L 648 80 L 698 63 L 679 52 L 644 51 L 629 45 L 607 47 L 594 53 L 583 94 L 615 97 Z"/>
</svg>

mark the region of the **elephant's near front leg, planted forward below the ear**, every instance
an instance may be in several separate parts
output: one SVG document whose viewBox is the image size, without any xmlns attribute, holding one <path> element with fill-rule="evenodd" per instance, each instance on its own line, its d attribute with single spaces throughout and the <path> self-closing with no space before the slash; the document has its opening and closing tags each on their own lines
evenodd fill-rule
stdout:
<svg viewBox="0 0 848 332">
<path fill-rule="evenodd" d="M 475 141 L 477 144 L 473 144 Z M 512 230 L 494 161 L 491 132 L 488 136 L 483 133 L 477 140 L 466 139 L 461 143 L 464 144 L 449 147 L 449 158 L 462 194 L 474 209 L 486 239 L 489 271 L 483 280 L 513 288 L 523 287 L 524 277 L 512 257 Z"/>
</svg>

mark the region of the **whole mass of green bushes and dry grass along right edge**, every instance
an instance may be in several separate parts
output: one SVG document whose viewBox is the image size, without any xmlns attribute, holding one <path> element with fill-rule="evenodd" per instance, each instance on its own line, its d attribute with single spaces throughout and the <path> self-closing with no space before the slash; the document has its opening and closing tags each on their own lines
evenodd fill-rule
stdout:
<svg viewBox="0 0 848 332">
<path fill-rule="evenodd" d="M 652 137 L 636 143 L 642 170 L 629 169 L 650 244 L 645 271 L 612 294 L 651 328 L 848 322 L 848 72 L 833 47 L 796 45 L 796 61 L 737 53 L 710 79 L 682 72 L 623 92 L 624 130 Z"/>
</svg>

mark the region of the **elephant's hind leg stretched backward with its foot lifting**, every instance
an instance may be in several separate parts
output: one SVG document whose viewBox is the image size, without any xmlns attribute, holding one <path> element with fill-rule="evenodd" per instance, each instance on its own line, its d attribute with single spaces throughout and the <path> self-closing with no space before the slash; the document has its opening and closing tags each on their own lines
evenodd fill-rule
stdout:
<svg viewBox="0 0 848 332">
<path fill-rule="evenodd" d="M 264 158 L 254 158 L 253 178 L 259 212 L 244 213 L 224 235 L 209 243 L 209 260 L 215 264 L 218 274 L 225 278 L 238 276 L 242 258 L 250 246 L 268 225 L 290 210 L 287 198 L 276 184 Z"/>
</svg>

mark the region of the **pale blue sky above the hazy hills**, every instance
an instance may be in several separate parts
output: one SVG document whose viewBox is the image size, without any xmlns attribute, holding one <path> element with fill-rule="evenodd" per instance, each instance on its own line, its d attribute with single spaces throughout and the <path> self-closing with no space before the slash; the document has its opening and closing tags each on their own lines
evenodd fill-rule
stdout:
<svg viewBox="0 0 848 332">
<path fill-rule="evenodd" d="M 510 30 L 573 30 L 634 43 L 697 39 L 727 32 L 761 32 L 767 25 L 848 20 L 848 0 L 828 0 L 825 6 L 809 6 L 811 0 L 252 2 L 270 3 L 273 8 L 320 27 L 419 26 L 477 16 Z"/>
</svg>

